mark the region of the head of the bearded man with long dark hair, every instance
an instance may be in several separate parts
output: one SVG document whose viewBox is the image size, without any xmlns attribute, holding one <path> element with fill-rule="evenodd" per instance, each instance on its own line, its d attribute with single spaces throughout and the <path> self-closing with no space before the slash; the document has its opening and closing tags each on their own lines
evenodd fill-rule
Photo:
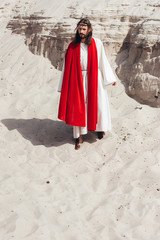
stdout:
<svg viewBox="0 0 160 240">
<path fill-rule="evenodd" d="M 92 39 L 92 25 L 90 21 L 87 18 L 82 18 L 78 23 L 76 27 L 76 35 L 74 38 L 74 42 L 78 43 L 82 39 L 85 39 L 85 43 L 87 45 L 91 44 Z"/>
</svg>

